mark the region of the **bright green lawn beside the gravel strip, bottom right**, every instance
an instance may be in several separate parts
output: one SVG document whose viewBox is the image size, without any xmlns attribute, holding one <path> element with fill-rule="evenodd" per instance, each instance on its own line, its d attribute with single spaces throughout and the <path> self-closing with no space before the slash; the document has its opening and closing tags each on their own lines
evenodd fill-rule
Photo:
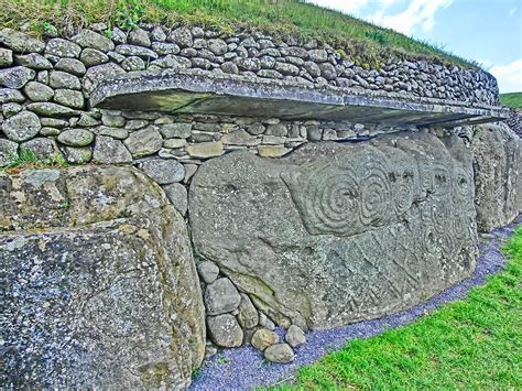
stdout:
<svg viewBox="0 0 522 391">
<path fill-rule="evenodd" d="M 281 389 L 522 389 L 522 227 L 507 270 L 416 323 L 355 340 Z"/>
</svg>

